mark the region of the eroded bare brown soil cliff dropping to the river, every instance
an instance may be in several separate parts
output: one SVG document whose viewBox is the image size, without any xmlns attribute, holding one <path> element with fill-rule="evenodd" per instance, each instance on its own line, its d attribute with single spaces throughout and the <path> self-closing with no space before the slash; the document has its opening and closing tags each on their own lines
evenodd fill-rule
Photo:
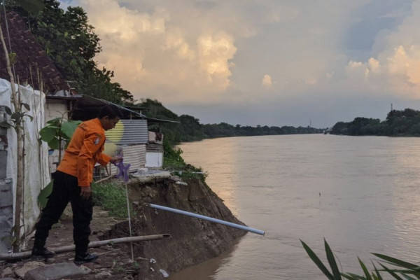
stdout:
<svg viewBox="0 0 420 280">
<path fill-rule="evenodd" d="M 190 265 L 214 258 L 228 250 L 235 239 L 246 232 L 197 218 L 152 209 L 147 202 L 241 223 L 223 201 L 199 179 L 187 181 L 188 186 L 176 179 L 160 179 L 149 183 L 130 181 L 130 200 L 133 204 L 133 235 L 170 233 L 172 238 L 134 244 L 134 255 L 152 262 L 143 262 L 139 279 L 160 279 L 159 269 L 172 273 Z M 102 238 L 125 237 L 128 223 L 118 223 Z M 127 253 L 130 248 L 127 245 Z M 151 267 L 153 269 L 151 269 Z M 153 270 L 158 273 L 153 273 Z"/>
</svg>

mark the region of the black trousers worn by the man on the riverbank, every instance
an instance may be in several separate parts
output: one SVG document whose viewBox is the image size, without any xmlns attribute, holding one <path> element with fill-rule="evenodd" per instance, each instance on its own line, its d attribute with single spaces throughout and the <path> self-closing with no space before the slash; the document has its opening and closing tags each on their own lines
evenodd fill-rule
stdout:
<svg viewBox="0 0 420 280">
<path fill-rule="evenodd" d="M 36 223 L 34 247 L 43 248 L 53 224 L 57 223 L 67 204 L 71 202 L 73 210 L 73 241 L 76 254 L 87 252 L 92 221 L 92 195 L 85 200 L 80 197 L 80 187 L 77 178 L 64 172 L 55 172 L 52 176 L 54 184 L 47 206 L 43 209 L 41 218 Z"/>
</svg>

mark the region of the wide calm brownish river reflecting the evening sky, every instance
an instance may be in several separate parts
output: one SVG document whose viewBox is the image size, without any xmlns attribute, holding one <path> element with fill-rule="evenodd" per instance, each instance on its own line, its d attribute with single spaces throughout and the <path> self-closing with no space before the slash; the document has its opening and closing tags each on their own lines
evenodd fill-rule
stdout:
<svg viewBox="0 0 420 280">
<path fill-rule="evenodd" d="M 325 260 L 327 239 L 344 272 L 374 253 L 420 260 L 420 138 L 323 134 L 232 137 L 181 144 L 186 162 L 248 233 L 219 258 L 172 280 L 326 279 L 300 244 Z"/>
</svg>

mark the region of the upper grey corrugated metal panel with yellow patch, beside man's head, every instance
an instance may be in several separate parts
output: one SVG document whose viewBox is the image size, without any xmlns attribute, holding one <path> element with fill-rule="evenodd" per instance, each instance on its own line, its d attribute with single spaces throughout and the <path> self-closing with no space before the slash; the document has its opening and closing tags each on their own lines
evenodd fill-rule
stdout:
<svg viewBox="0 0 420 280">
<path fill-rule="evenodd" d="M 116 127 L 106 131 L 106 141 L 117 145 L 146 144 L 147 120 L 120 120 Z"/>
</svg>

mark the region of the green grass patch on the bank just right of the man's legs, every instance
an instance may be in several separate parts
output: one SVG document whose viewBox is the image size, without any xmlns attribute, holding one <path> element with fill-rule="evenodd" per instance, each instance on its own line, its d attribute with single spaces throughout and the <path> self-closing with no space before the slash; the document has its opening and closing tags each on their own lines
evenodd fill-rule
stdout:
<svg viewBox="0 0 420 280">
<path fill-rule="evenodd" d="M 120 183 L 92 183 L 92 199 L 111 216 L 127 218 L 125 188 Z"/>
</svg>

